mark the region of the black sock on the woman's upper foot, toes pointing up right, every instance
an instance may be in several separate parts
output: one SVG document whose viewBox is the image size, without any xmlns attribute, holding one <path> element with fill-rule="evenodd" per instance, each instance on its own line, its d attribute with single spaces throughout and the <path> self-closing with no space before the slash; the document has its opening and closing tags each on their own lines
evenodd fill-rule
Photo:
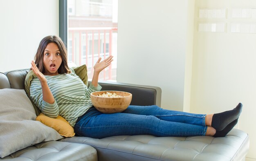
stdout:
<svg viewBox="0 0 256 161">
<path fill-rule="evenodd" d="M 233 110 L 213 114 L 211 127 L 215 128 L 217 131 L 223 130 L 232 121 L 238 119 L 242 112 L 242 107 L 243 105 L 239 103 Z"/>
</svg>

